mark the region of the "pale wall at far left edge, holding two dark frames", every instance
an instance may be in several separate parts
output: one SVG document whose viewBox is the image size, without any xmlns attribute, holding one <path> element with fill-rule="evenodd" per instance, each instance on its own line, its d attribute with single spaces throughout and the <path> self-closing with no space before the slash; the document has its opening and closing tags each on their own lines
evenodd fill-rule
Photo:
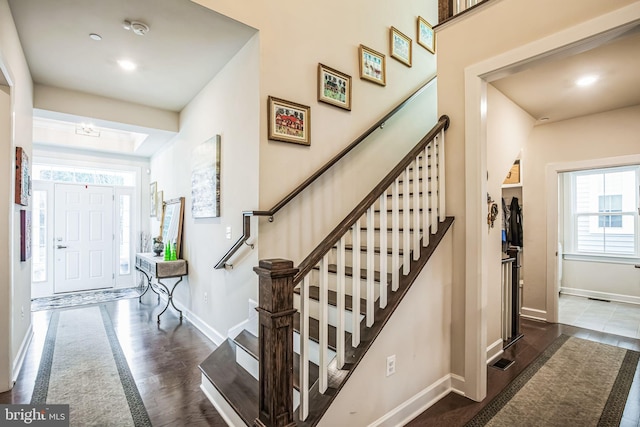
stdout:
<svg viewBox="0 0 640 427">
<path fill-rule="evenodd" d="M 15 147 L 31 157 L 33 85 L 6 0 L 0 0 L 0 71 L 10 89 L 0 94 L 0 110 L 9 120 L 0 126 L 0 391 L 12 386 L 17 376 L 19 355 L 31 329 L 31 261 L 20 262 L 20 207 L 15 205 Z M 6 113 L 10 112 L 7 117 Z M 12 123 L 12 125 L 11 125 Z M 28 207 L 26 207 L 29 209 Z"/>
</svg>

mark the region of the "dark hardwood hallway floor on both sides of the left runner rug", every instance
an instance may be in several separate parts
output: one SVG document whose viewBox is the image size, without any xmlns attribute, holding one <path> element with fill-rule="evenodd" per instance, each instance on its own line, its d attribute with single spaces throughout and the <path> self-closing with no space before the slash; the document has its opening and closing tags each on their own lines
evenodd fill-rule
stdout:
<svg viewBox="0 0 640 427">
<path fill-rule="evenodd" d="M 180 323 L 149 292 L 142 299 L 106 303 L 118 340 L 127 358 L 153 426 L 220 426 L 226 423 L 200 390 L 201 363 L 214 350 L 188 321 Z M 0 393 L 0 403 L 29 403 L 40 365 L 51 311 L 33 313 L 34 337 L 22 371 L 11 391 Z"/>
</svg>

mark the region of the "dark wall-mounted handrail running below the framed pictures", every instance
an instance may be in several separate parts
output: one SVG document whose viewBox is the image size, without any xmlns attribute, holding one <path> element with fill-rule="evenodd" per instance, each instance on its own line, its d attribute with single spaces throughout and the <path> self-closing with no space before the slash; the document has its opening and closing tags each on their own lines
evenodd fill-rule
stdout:
<svg viewBox="0 0 640 427">
<path fill-rule="evenodd" d="M 316 179 L 322 176 L 327 170 L 331 169 L 338 161 L 340 161 L 344 156 L 349 154 L 351 150 L 356 148 L 360 143 L 365 141 L 367 137 L 369 137 L 373 132 L 377 129 L 382 129 L 384 124 L 393 117 L 396 113 L 406 107 L 411 101 L 416 99 L 426 88 L 429 86 L 431 82 L 436 79 L 436 76 L 432 76 L 427 80 L 424 84 L 422 84 L 416 91 L 414 91 L 411 95 L 409 95 L 405 100 L 400 102 L 398 105 L 393 107 L 391 111 L 385 114 L 380 120 L 375 122 L 371 127 L 369 127 L 362 135 L 358 136 L 353 140 L 349 145 L 347 145 L 342 151 L 336 154 L 331 160 L 321 166 L 318 170 L 316 170 L 309 178 L 307 178 L 302 184 L 298 185 L 294 188 L 289 194 L 287 194 L 282 200 L 276 203 L 271 209 L 265 211 L 244 211 L 242 213 L 243 222 L 242 222 L 242 236 L 234 243 L 234 245 L 224 254 L 224 256 L 218 261 L 215 265 L 215 269 L 221 269 L 225 267 L 233 268 L 232 264 L 229 264 L 228 261 L 231 257 L 244 245 L 249 238 L 251 237 L 251 217 L 252 216 L 267 216 L 269 217 L 269 221 L 273 221 L 273 216 L 282 209 L 287 203 L 293 200 L 298 194 L 302 193 L 307 187 L 309 187 Z M 251 245 L 250 245 L 251 246 Z M 253 247 L 253 246 L 252 246 Z"/>
</svg>

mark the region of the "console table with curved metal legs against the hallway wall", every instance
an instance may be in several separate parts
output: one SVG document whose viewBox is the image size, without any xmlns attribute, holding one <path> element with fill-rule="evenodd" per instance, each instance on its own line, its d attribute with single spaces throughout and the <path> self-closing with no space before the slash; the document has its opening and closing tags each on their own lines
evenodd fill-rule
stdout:
<svg viewBox="0 0 640 427">
<path fill-rule="evenodd" d="M 187 275 L 187 261 L 184 259 L 165 261 L 162 257 L 156 256 L 156 254 L 152 252 L 139 253 L 136 254 L 136 270 L 140 271 L 147 278 L 147 286 L 138 297 L 138 302 L 142 302 L 142 296 L 146 294 L 149 289 L 156 293 L 158 299 L 160 299 L 160 293 L 156 291 L 151 284 L 151 279 L 155 277 L 158 282 L 158 290 L 167 295 L 167 305 L 165 305 L 162 312 L 158 314 L 158 323 L 160 323 L 160 316 L 167 311 L 169 304 L 180 313 L 180 320 L 182 320 L 182 310 L 179 310 L 173 303 L 173 291 L 176 289 L 176 286 L 178 286 L 178 283 L 182 282 L 183 277 Z M 170 285 L 171 290 L 169 290 L 169 286 L 160 281 L 160 279 L 170 278 L 178 278 L 173 285 Z"/>
</svg>

